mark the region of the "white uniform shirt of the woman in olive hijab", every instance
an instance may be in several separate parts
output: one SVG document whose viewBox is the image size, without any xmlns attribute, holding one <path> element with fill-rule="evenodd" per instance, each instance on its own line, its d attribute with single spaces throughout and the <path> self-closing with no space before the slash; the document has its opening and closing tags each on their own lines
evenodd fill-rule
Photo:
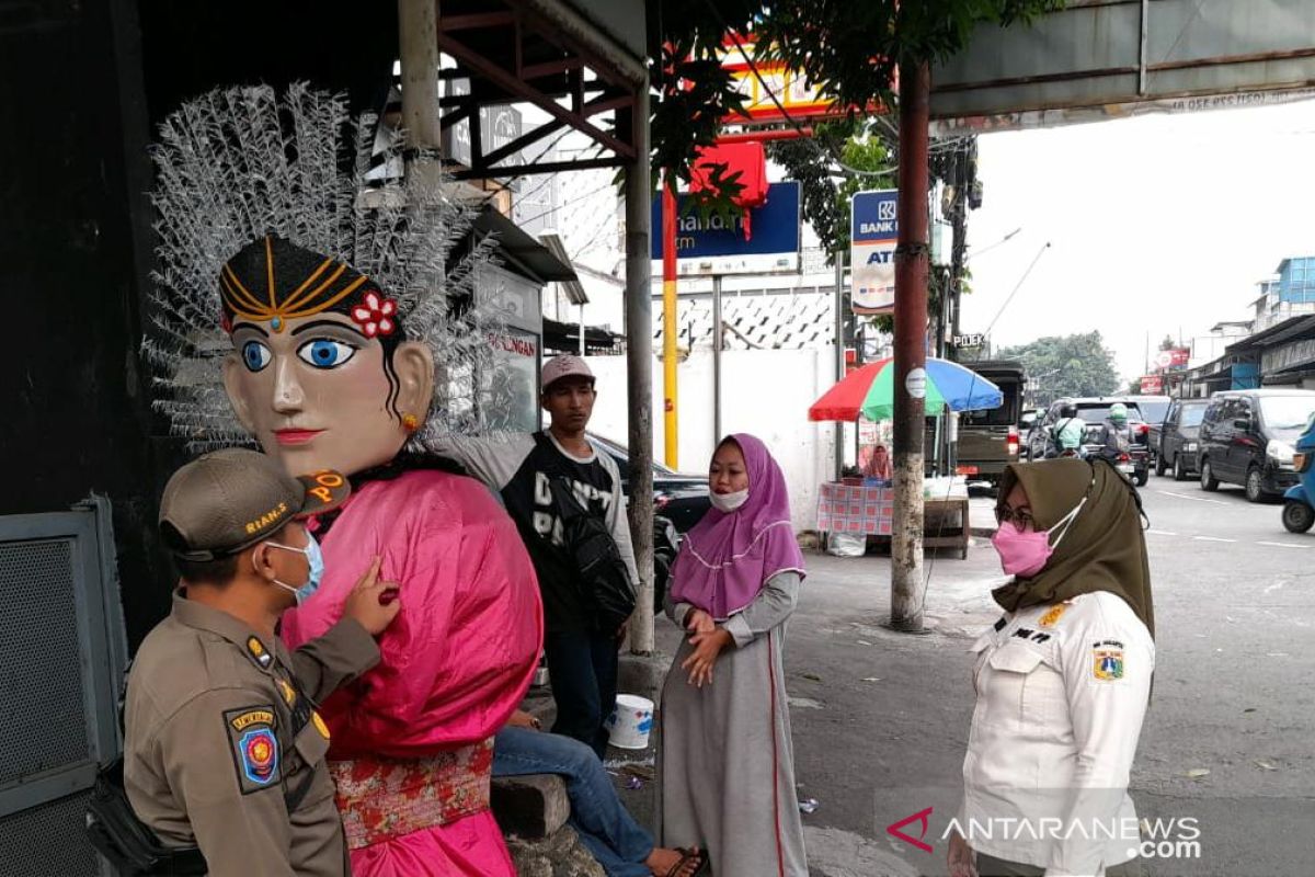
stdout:
<svg viewBox="0 0 1315 877">
<path fill-rule="evenodd" d="M 1128 772 L 1155 643 L 1119 596 L 1006 613 L 973 644 L 977 705 L 964 757 L 969 845 L 1048 876 L 1136 855 Z"/>
</svg>

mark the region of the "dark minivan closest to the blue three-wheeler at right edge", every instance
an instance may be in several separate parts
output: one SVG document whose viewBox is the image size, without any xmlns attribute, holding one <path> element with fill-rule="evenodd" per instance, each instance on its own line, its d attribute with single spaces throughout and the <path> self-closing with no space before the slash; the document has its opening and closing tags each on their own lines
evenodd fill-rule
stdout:
<svg viewBox="0 0 1315 877">
<path fill-rule="evenodd" d="M 1315 413 L 1315 392 L 1245 389 L 1215 393 L 1201 422 L 1201 486 L 1241 484 L 1260 502 L 1301 479 L 1293 444 Z"/>
</svg>

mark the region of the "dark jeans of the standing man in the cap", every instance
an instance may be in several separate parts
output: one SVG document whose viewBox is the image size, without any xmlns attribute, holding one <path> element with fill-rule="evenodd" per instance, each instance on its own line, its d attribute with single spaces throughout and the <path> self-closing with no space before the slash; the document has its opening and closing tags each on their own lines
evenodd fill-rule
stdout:
<svg viewBox="0 0 1315 877">
<path fill-rule="evenodd" d="M 617 706 L 617 636 L 584 631 L 548 632 L 543 638 L 548 682 L 558 705 L 554 734 L 572 736 L 608 753 L 604 722 Z"/>
</svg>

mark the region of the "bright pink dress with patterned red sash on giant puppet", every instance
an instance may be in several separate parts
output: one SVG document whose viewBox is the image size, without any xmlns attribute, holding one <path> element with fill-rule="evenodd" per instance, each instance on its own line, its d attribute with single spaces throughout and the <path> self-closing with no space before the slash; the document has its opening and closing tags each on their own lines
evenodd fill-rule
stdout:
<svg viewBox="0 0 1315 877">
<path fill-rule="evenodd" d="M 321 539 L 316 597 L 283 617 L 291 647 L 323 634 L 373 555 L 401 611 L 375 669 L 321 706 L 358 877 L 514 877 L 488 810 L 492 738 L 539 659 L 543 610 L 515 525 L 472 479 L 370 481 Z"/>
</svg>

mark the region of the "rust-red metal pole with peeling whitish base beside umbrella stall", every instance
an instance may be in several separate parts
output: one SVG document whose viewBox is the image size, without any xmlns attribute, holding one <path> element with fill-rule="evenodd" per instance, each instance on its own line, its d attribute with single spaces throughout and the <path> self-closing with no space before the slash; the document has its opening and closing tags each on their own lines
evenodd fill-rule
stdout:
<svg viewBox="0 0 1315 877">
<path fill-rule="evenodd" d="M 894 526 L 890 626 L 920 631 L 923 431 L 927 396 L 927 64 L 899 67 L 899 243 L 896 247 Z"/>
</svg>

